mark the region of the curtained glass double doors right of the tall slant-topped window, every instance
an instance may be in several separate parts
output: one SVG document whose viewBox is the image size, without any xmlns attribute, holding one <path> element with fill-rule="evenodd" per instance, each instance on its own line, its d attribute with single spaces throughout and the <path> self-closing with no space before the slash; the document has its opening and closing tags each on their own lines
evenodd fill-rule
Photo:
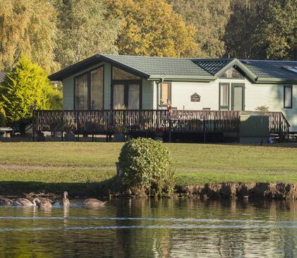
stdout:
<svg viewBox="0 0 297 258">
<path fill-rule="evenodd" d="M 140 109 L 140 84 L 123 83 L 114 84 L 112 93 L 112 108 L 114 110 Z"/>
</svg>

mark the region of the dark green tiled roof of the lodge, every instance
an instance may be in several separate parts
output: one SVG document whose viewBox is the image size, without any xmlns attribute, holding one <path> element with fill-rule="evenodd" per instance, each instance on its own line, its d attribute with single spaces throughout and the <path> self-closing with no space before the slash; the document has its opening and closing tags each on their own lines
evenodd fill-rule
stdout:
<svg viewBox="0 0 297 258">
<path fill-rule="evenodd" d="M 121 69 L 151 80 L 214 81 L 226 69 L 236 66 L 251 81 L 296 81 L 297 74 L 283 66 L 297 66 L 297 61 L 262 61 L 238 59 L 190 59 L 170 57 L 139 57 L 114 54 L 95 54 L 88 59 L 73 64 L 49 78 L 61 81 L 83 69 L 105 61 Z"/>
</svg>

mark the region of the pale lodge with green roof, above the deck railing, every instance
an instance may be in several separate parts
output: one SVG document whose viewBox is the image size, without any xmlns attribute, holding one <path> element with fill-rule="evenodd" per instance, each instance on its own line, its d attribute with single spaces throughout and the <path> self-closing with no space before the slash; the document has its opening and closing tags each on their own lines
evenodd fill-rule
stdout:
<svg viewBox="0 0 297 258">
<path fill-rule="evenodd" d="M 282 112 L 297 131 L 297 61 L 177 59 L 96 54 L 49 76 L 64 110 Z"/>
</svg>

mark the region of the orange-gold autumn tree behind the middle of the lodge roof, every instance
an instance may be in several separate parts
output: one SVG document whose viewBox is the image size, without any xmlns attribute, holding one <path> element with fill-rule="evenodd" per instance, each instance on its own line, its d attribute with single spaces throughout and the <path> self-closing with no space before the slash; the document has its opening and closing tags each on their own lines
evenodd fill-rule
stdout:
<svg viewBox="0 0 297 258">
<path fill-rule="evenodd" d="M 119 54 L 190 57 L 197 52 L 195 28 L 165 0 L 106 0 L 109 17 L 121 19 Z"/>
</svg>

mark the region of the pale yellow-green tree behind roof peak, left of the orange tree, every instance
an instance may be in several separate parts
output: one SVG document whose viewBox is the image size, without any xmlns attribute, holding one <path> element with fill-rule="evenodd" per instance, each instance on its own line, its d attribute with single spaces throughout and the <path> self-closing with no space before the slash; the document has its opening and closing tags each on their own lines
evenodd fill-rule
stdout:
<svg viewBox="0 0 297 258">
<path fill-rule="evenodd" d="M 56 61 L 69 66 L 95 53 L 117 52 L 120 23 L 107 18 L 107 5 L 97 0 L 59 0 Z"/>
</svg>

